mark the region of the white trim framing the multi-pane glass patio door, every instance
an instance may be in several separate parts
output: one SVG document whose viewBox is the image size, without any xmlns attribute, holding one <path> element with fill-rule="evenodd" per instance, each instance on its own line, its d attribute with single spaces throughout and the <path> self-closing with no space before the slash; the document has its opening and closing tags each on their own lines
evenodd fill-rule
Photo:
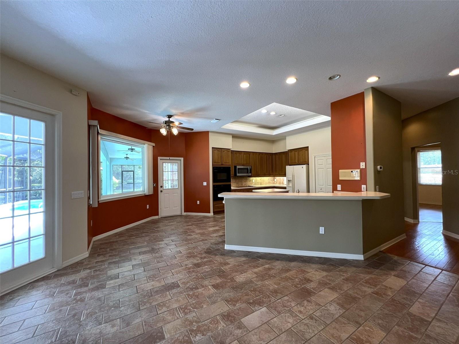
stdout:
<svg viewBox="0 0 459 344">
<path fill-rule="evenodd" d="M 10 105 L 17 105 L 29 110 L 39 111 L 54 117 L 54 173 L 56 176 L 56 184 L 54 185 L 54 221 L 52 232 L 54 232 L 54 252 L 53 252 L 53 269 L 59 270 L 62 268 L 62 112 L 47 108 L 45 106 L 29 103 L 25 100 L 10 97 L 5 94 L 0 94 L 0 102 Z M 18 114 L 20 116 L 20 114 Z M 34 276 L 27 280 L 27 283 L 42 277 Z M 25 283 L 21 283 L 24 285 Z M 10 288 L 10 290 L 18 288 L 20 285 Z M 2 294 L 5 291 L 2 290 Z"/>
</svg>

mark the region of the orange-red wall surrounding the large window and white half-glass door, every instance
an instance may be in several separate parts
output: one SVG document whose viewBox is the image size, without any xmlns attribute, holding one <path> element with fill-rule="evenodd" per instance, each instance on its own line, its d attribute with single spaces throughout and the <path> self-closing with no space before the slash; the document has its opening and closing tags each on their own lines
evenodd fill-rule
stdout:
<svg viewBox="0 0 459 344">
<path fill-rule="evenodd" d="M 155 144 L 153 147 L 153 183 L 157 185 L 158 156 L 184 158 L 185 212 L 210 213 L 208 132 L 163 136 L 159 130 L 147 129 L 137 123 L 95 109 L 90 105 L 89 99 L 88 119 L 99 121 L 101 130 L 153 142 Z M 190 137 L 187 139 L 188 136 Z M 188 158 L 186 157 L 185 141 L 189 145 Z M 207 143 L 205 143 L 206 141 Z M 207 181 L 207 186 L 202 186 L 203 181 Z M 201 203 L 197 207 L 192 204 L 192 200 L 195 200 L 196 197 L 199 197 Z M 146 208 L 146 205 L 149 205 L 149 209 Z M 89 206 L 88 246 L 91 239 L 97 235 L 157 215 L 158 186 L 153 188 L 151 195 L 101 202 L 95 208 Z M 92 228 L 90 226 L 91 220 Z"/>
</svg>

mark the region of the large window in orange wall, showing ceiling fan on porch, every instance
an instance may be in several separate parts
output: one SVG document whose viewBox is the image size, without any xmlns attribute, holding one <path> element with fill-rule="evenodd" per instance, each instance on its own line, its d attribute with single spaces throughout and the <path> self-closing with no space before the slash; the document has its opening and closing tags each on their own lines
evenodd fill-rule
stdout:
<svg viewBox="0 0 459 344">
<path fill-rule="evenodd" d="M 100 135 L 101 200 L 146 193 L 145 145 Z"/>
</svg>

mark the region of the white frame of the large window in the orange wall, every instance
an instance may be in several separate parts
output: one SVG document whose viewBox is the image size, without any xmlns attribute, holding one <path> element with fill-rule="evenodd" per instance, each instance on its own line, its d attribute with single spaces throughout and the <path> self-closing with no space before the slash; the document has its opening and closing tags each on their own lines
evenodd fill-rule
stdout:
<svg viewBox="0 0 459 344">
<path fill-rule="evenodd" d="M 120 200 L 124 198 L 131 198 L 131 197 L 138 197 L 138 196 L 144 196 L 146 194 L 153 194 L 153 188 L 152 188 L 152 175 L 153 175 L 153 164 L 149 163 L 149 161 L 152 161 L 152 159 L 148 159 L 148 154 L 149 152 L 152 152 L 152 150 L 149 147 L 153 147 L 154 144 L 151 142 L 146 142 L 143 140 L 139 139 L 134 139 L 134 138 L 129 138 L 124 135 L 119 135 L 115 133 L 110 133 L 106 132 L 103 130 L 99 130 L 99 133 L 97 135 L 97 141 L 98 141 L 98 150 L 97 150 L 97 157 L 98 157 L 98 166 L 100 166 L 101 162 L 101 140 L 105 141 L 111 141 L 115 143 L 120 143 L 120 144 L 126 144 L 129 146 L 137 147 L 137 148 L 142 148 L 142 172 L 143 172 L 143 189 L 140 191 L 133 191 L 133 192 L 125 192 L 125 193 L 119 193 L 119 194 L 107 194 L 107 195 L 101 195 L 101 169 L 97 169 L 97 183 L 98 183 L 98 202 L 103 203 L 103 202 L 108 202 L 112 200 Z M 117 164 L 118 165 L 118 164 Z M 122 165 L 122 164 L 119 164 Z M 139 164 L 136 164 L 139 165 Z M 133 165 L 134 166 L 134 165 Z M 112 175 L 113 172 L 110 171 L 110 175 Z M 134 184 L 133 184 L 134 186 Z"/>
</svg>

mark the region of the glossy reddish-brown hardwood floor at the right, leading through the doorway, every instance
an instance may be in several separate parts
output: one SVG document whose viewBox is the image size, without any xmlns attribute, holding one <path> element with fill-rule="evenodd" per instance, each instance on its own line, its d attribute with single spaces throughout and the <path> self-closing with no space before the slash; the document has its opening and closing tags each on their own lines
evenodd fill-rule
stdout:
<svg viewBox="0 0 459 344">
<path fill-rule="evenodd" d="M 442 222 L 405 222 L 406 239 L 383 251 L 459 273 L 459 240 L 443 235 L 442 229 Z"/>
</svg>

